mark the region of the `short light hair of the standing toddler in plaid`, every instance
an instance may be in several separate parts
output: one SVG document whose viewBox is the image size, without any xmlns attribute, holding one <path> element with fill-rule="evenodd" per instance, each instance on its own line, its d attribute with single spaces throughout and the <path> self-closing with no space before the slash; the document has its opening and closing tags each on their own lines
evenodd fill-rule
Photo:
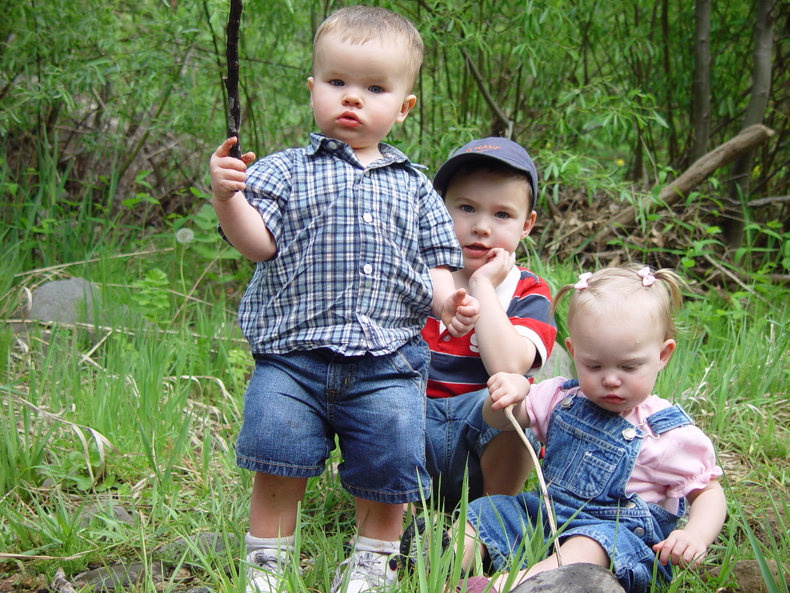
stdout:
<svg viewBox="0 0 790 593">
<path fill-rule="evenodd" d="M 318 41 L 325 36 L 336 36 L 340 41 L 357 44 L 386 37 L 404 40 L 406 45 L 408 68 L 412 75 L 409 91 L 414 88 L 419 74 L 419 66 L 423 65 L 423 38 L 408 18 L 398 13 L 377 6 L 348 6 L 341 8 L 326 17 L 315 32 L 313 39 L 313 62 Z"/>
</svg>

